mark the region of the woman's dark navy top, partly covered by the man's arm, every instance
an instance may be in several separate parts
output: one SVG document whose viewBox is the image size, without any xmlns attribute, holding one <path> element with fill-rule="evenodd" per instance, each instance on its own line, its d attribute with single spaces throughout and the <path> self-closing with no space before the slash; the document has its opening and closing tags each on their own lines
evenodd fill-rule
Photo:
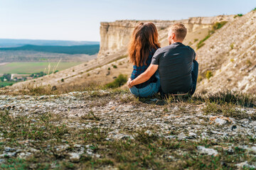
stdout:
<svg viewBox="0 0 256 170">
<path fill-rule="evenodd" d="M 137 67 L 136 65 L 133 66 L 132 77 L 131 77 L 132 80 L 136 79 L 140 74 L 142 74 L 143 72 L 146 71 L 146 69 L 151 64 L 151 60 L 152 60 L 152 57 L 154 55 L 154 52 L 156 52 L 156 50 L 154 50 L 154 49 L 152 49 L 151 52 L 149 52 L 149 57 L 146 59 L 146 65 L 139 66 L 139 67 Z M 145 86 L 147 86 L 147 85 L 149 85 L 151 83 L 155 83 L 156 81 L 157 81 L 156 73 L 154 73 L 153 76 L 151 76 L 148 81 L 145 81 L 142 84 L 137 84 L 135 86 L 138 89 L 142 89 L 143 87 L 145 87 Z"/>
</svg>

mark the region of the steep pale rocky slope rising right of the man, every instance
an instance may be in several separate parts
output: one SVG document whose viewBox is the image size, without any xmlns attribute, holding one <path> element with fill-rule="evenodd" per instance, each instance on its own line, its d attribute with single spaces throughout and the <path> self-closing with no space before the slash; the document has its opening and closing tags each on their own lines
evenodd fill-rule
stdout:
<svg viewBox="0 0 256 170">
<path fill-rule="evenodd" d="M 256 11 L 236 17 L 216 31 L 197 50 L 203 79 L 199 92 L 230 89 L 256 94 Z"/>
</svg>

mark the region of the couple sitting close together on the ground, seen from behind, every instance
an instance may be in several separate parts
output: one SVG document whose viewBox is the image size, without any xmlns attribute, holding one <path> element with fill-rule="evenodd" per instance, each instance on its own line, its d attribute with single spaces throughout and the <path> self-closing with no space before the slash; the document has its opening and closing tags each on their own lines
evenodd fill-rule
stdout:
<svg viewBox="0 0 256 170">
<path fill-rule="evenodd" d="M 139 23 L 129 44 L 129 60 L 134 64 L 127 81 L 135 96 L 149 97 L 160 91 L 161 96 L 193 95 L 196 91 L 198 62 L 196 52 L 182 42 L 187 29 L 183 24 L 171 26 L 169 46 L 160 48 L 154 23 Z"/>
</svg>

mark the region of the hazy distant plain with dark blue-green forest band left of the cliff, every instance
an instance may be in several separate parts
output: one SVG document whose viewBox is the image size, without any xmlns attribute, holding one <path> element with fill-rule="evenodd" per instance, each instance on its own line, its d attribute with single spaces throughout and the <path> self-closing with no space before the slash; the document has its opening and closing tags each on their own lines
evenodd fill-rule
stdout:
<svg viewBox="0 0 256 170">
<path fill-rule="evenodd" d="M 87 62 L 99 50 L 100 42 L 0 39 L 0 63 Z"/>
</svg>

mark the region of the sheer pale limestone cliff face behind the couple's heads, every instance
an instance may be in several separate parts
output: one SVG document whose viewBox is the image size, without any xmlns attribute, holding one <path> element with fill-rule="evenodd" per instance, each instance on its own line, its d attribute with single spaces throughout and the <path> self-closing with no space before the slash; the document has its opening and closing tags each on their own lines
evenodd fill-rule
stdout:
<svg viewBox="0 0 256 170">
<path fill-rule="evenodd" d="M 162 46 L 166 46 L 167 30 L 174 23 L 183 23 L 188 28 L 188 33 L 193 33 L 198 29 L 211 28 L 217 21 L 230 21 L 233 16 L 213 16 L 196 17 L 180 21 L 151 21 L 159 30 Z M 140 22 L 149 21 L 115 21 L 111 23 L 101 23 L 100 25 L 100 52 L 98 57 L 113 55 L 120 50 L 127 48 L 130 36 L 135 26 Z M 165 39 L 164 39 L 165 38 Z"/>
</svg>

